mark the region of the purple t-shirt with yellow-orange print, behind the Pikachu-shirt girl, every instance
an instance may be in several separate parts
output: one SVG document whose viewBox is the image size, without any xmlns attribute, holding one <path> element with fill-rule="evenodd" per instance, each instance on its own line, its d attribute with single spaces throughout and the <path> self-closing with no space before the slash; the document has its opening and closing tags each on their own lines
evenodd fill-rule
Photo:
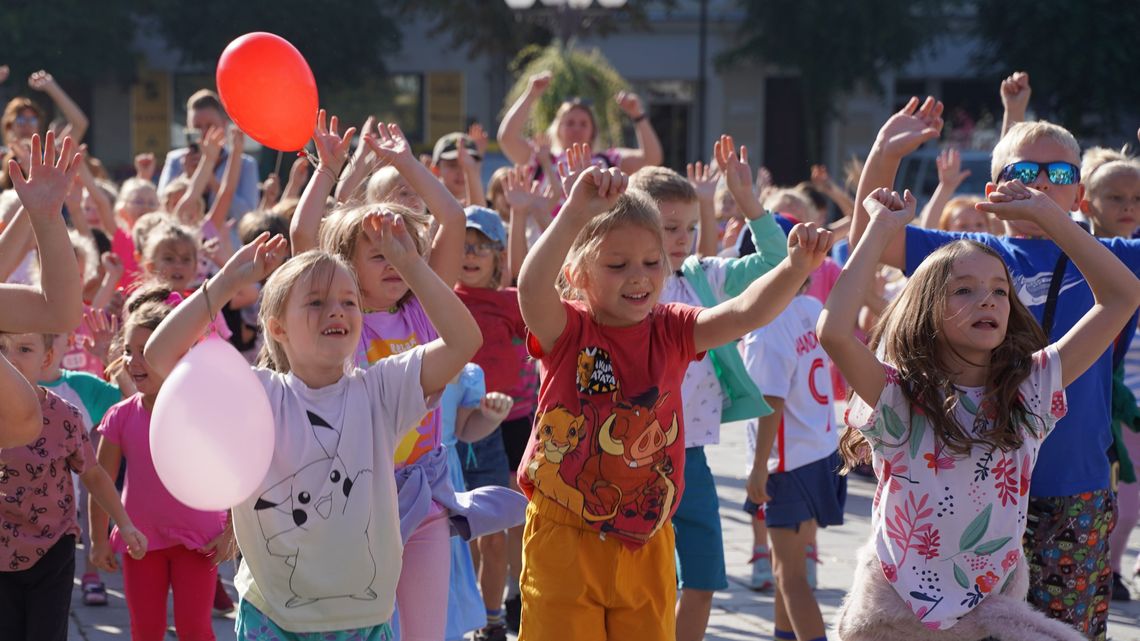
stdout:
<svg viewBox="0 0 1140 641">
<path fill-rule="evenodd" d="M 427 319 L 420 300 L 412 297 L 394 313 L 373 311 L 364 315 L 356 363 L 367 368 L 386 356 L 404 354 L 438 338 L 439 334 Z M 415 463 L 421 456 L 439 447 L 441 436 L 439 409 L 432 409 L 396 446 L 396 469 Z"/>
</svg>

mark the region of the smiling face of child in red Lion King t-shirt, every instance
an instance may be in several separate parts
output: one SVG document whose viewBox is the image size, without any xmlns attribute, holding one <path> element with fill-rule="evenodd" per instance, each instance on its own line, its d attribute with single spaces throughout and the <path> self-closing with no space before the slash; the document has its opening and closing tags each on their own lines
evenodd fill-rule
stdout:
<svg viewBox="0 0 1140 641">
<path fill-rule="evenodd" d="M 626 327 L 644 320 L 661 295 L 665 268 L 661 242 L 649 229 L 627 225 L 606 234 L 581 275 L 597 323 Z"/>
</svg>

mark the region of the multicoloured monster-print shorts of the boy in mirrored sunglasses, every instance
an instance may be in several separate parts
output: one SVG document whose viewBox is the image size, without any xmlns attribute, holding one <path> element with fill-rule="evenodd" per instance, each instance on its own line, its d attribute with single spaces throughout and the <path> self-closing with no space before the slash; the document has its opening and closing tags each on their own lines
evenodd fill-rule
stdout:
<svg viewBox="0 0 1140 641">
<path fill-rule="evenodd" d="M 1102 641 L 1108 627 L 1108 535 L 1115 525 L 1116 501 L 1108 489 L 1029 498 L 1023 541 L 1028 601 L 1093 641 Z"/>
</svg>

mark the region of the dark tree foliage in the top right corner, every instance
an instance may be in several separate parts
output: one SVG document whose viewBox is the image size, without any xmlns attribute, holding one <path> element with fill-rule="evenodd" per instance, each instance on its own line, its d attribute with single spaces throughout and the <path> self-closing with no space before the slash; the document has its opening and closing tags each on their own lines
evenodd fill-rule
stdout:
<svg viewBox="0 0 1140 641">
<path fill-rule="evenodd" d="M 1029 73 L 1034 109 L 1086 136 L 1117 132 L 1140 104 L 1140 3 L 978 0 L 983 72 Z"/>
</svg>

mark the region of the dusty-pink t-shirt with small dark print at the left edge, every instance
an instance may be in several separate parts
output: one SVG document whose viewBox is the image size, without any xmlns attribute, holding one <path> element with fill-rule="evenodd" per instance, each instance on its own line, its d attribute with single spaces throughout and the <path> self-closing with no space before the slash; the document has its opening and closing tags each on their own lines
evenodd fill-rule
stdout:
<svg viewBox="0 0 1140 641">
<path fill-rule="evenodd" d="M 83 473 L 95 461 L 79 409 L 39 389 L 43 395 L 40 438 L 24 447 L 9 447 L 0 457 L 0 571 L 26 570 L 60 536 L 79 535 L 71 472 Z"/>
</svg>

